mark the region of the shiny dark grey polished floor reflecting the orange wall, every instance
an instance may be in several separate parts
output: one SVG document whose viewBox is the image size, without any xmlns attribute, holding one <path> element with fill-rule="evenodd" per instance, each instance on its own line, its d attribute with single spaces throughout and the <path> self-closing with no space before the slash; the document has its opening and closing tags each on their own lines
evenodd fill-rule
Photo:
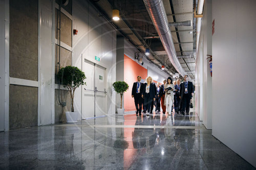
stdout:
<svg viewBox="0 0 256 170">
<path fill-rule="evenodd" d="M 255 169 L 195 114 L 112 115 L 0 133 L 0 169 Z"/>
</svg>

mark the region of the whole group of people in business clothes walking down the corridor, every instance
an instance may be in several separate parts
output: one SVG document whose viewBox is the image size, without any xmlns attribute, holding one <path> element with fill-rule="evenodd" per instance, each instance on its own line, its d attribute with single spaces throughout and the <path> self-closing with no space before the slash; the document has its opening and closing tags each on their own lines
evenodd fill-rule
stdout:
<svg viewBox="0 0 256 170">
<path fill-rule="evenodd" d="M 156 85 L 151 77 L 146 78 L 146 82 L 141 82 L 141 77 L 137 76 L 137 82 L 134 82 L 132 89 L 132 98 L 134 98 L 136 106 L 136 114 L 141 115 L 142 105 L 144 113 L 152 113 L 154 105 L 155 111 L 160 112 L 160 103 L 163 113 L 168 114 L 175 110 L 175 113 L 189 113 L 189 105 L 194 94 L 194 86 L 188 81 L 188 75 L 184 76 L 184 82 L 180 84 L 180 80 L 172 80 L 168 77 L 167 81 L 163 80 L 163 84 Z"/>
</svg>

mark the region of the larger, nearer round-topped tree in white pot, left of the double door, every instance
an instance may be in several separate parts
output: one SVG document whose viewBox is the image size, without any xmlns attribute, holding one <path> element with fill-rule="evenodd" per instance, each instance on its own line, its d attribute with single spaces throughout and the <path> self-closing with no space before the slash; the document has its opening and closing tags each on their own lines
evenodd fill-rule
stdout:
<svg viewBox="0 0 256 170">
<path fill-rule="evenodd" d="M 86 85 L 86 82 L 83 82 L 86 75 L 79 68 L 69 65 L 58 71 L 57 78 L 68 88 L 71 95 L 71 112 L 66 112 L 67 123 L 77 123 L 78 112 L 74 112 L 74 94 L 77 87 Z"/>
</svg>

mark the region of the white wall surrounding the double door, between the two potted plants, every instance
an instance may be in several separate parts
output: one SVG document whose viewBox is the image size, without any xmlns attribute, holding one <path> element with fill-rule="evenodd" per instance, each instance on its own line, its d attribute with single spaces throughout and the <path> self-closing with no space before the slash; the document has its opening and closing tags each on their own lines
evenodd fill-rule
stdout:
<svg viewBox="0 0 256 170">
<path fill-rule="evenodd" d="M 73 1 L 72 65 L 81 69 L 84 59 L 106 68 L 106 114 L 115 113 L 115 93 L 112 84 L 116 81 L 116 31 L 88 1 Z M 100 61 L 95 60 L 95 56 Z M 82 87 L 76 90 L 74 109 L 81 113 Z M 80 116 L 79 116 L 80 117 Z"/>
</svg>

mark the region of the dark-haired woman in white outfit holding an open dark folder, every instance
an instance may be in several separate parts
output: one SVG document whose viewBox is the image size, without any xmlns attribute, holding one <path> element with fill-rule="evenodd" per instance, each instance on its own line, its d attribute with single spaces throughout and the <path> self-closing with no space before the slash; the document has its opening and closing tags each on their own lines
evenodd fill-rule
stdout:
<svg viewBox="0 0 256 170">
<path fill-rule="evenodd" d="M 172 106 L 174 104 L 174 85 L 172 78 L 167 78 L 167 83 L 164 85 L 165 97 L 164 97 L 164 105 L 166 106 L 166 110 L 168 114 L 172 112 Z"/>
</svg>

